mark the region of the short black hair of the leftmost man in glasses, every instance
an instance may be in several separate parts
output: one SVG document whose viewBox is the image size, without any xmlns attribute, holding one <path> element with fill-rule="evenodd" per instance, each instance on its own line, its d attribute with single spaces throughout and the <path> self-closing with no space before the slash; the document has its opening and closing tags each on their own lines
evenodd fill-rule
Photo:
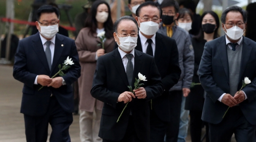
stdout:
<svg viewBox="0 0 256 142">
<path fill-rule="evenodd" d="M 52 12 L 54 12 L 57 15 L 57 17 L 59 17 L 60 12 L 56 7 L 51 5 L 40 6 L 36 12 L 36 20 L 40 19 L 42 13 L 52 13 Z"/>
</svg>

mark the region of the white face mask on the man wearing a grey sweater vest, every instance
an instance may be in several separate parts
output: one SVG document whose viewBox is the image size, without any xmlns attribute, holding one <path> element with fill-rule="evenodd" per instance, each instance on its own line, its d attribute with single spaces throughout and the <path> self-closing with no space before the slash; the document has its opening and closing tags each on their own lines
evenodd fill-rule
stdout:
<svg viewBox="0 0 256 142">
<path fill-rule="evenodd" d="M 225 25 L 224 25 L 224 28 L 226 29 Z M 227 36 L 234 41 L 241 38 L 241 36 L 243 36 L 244 34 L 244 29 L 241 29 L 238 26 L 233 26 L 232 28 L 226 29 L 226 30 L 227 32 L 225 33 L 227 34 Z"/>
</svg>

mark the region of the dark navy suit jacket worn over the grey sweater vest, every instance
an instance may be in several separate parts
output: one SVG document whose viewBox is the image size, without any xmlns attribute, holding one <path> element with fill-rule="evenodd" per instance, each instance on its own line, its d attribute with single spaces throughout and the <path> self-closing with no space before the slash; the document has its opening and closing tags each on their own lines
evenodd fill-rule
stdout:
<svg viewBox="0 0 256 142">
<path fill-rule="evenodd" d="M 252 82 L 242 90 L 248 99 L 239 104 L 245 118 L 256 125 L 256 43 L 243 37 L 239 85 L 248 77 Z M 204 53 L 199 66 L 199 78 L 207 96 L 204 101 L 202 119 L 218 124 L 228 106 L 218 101 L 223 93 L 230 93 L 229 68 L 225 35 L 205 43 Z"/>
</svg>

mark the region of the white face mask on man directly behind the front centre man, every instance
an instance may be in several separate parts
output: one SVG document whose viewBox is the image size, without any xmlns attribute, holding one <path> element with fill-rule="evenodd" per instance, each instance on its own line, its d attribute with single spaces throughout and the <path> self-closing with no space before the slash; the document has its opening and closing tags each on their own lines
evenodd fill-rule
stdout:
<svg viewBox="0 0 256 142">
<path fill-rule="evenodd" d="M 142 22 L 139 29 L 145 35 L 154 35 L 159 29 L 159 24 L 153 21 Z"/>
</svg>

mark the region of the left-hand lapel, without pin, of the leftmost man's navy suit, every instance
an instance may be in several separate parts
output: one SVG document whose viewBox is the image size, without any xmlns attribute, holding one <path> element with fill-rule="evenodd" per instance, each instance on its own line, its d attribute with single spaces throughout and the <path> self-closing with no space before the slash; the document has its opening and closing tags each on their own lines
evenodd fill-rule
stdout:
<svg viewBox="0 0 256 142">
<path fill-rule="evenodd" d="M 35 35 L 35 39 L 33 39 L 32 41 L 34 41 L 34 43 L 32 43 L 32 48 L 34 49 L 41 63 L 43 64 L 44 68 L 47 70 L 48 73 L 50 73 L 50 69 L 47 63 L 47 58 L 44 52 L 44 47 L 40 39 L 39 32 Z"/>
</svg>

